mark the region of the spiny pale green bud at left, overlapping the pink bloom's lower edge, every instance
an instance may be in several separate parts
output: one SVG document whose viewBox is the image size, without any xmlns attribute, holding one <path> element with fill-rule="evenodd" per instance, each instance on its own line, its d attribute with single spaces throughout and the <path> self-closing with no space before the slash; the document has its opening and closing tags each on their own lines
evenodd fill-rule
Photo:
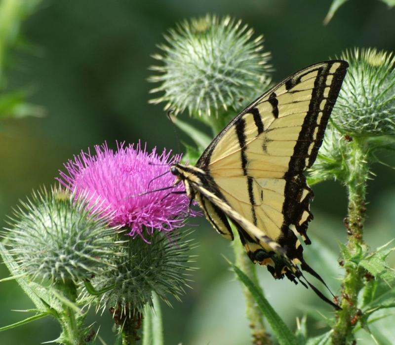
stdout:
<svg viewBox="0 0 395 345">
<path fill-rule="evenodd" d="M 116 228 L 108 227 L 108 212 L 98 211 L 96 201 L 88 207 L 92 202 L 83 193 L 76 197 L 55 188 L 21 202 L 3 234 L 21 269 L 54 283 L 90 278 L 109 267 L 118 252 Z"/>
</svg>

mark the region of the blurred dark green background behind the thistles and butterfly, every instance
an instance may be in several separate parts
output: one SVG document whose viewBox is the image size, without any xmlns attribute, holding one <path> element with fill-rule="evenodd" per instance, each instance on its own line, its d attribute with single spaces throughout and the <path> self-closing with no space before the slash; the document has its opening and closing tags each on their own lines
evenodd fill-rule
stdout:
<svg viewBox="0 0 395 345">
<path fill-rule="evenodd" d="M 1 0 L 0 0 L 1 3 Z M 172 125 L 161 106 L 148 104 L 147 82 L 150 57 L 157 53 L 162 34 L 185 18 L 214 13 L 242 19 L 264 34 L 266 51 L 272 52 L 275 81 L 309 64 L 335 57 L 353 47 L 395 50 L 395 10 L 377 0 L 350 0 L 323 26 L 331 0 L 44 0 L 23 21 L 24 49 L 7 52 L 7 89 L 28 87 L 28 101 L 42 106 L 46 116 L 7 119 L 0 123 L 0 222 L 18 199 L 41 185 L 54 183 L 63 163 L 95 144 L 107 141 L 148 143 L 177 150 Z M 179 133 L 180 139 L 187 141 Z M 395 166 L 392 153 L 381 159 Z M 367 243 L 381 245 L 394 237 L 394 170 L 374 166 L 377 176 L 368 187 Z M 347 212 L 344 189 L 335 182 L 314 187 L 312 209 L 315 220 L 309 227 L 313 245 L 306 261 L 320 272 L 334 292 L 338 241 L 345 240 L 342 219 Z M 200 246 L 193 289 L 173 308 L 163 305 L 165 343 L 184 345 L 239 345 L 249 343 L 249 329 L 239 283 L 222 254 L 232 258 L 229 243 L 205 220 L 193 220 Z M 325 243 L 325 247 L 319 245 Z M 322 249 L 326 248 L 326 249 Z M 0 277 L 8 271 L 1 266 Z M 324 323 L 316 308 L 331 312 L 311 290 L 289 281 L 274 281 L 265 268 L 259 269 L 269 301 L 294 328 L 301 307 L 311 306 L 309 331 L 320 333 Z M 15 282 L 0 284 L 0 326 L 27 315 L 11 311 L 32 307 Z M 100 335 L 112 343 L 109 313 L 92 315 L 101 324 Z M 318 321 L 316 321 L 318 320 Z M 388 322 L 388 321 L 383 321 Z M 391 327 L 381 324 L 388 332 Z M 40 344 L 55 339 L 59 327 L 42 319 L 0 333 L 0 344 Z M 371 339 L 358 344 L 373 344 Z M 392 338 L 391 338 L 392 337 Z M 394 339 L 395 335 L 388 335 Z M 385 342 L 385 338 L 383 343 Z M 393 344 L 389 342 L 388 344 Z"/>
</svg>

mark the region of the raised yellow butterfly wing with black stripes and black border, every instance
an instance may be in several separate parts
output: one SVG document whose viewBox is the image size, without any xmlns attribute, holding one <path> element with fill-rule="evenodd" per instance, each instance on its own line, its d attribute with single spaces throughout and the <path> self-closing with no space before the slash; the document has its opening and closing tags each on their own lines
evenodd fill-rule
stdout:
<svg viewBox="0 0 395 345">
<path fill-rule="evenodd" d="M 345 61 L 326 61 L 285 78 L 237 115 L 196 165 L 235 214 L 278 243 L 295 263 L 305 264 L 291 225 L 309 244 L 306 229 L 313 219 L 313 192 L 303 172 L 316 159 L 347 67 Z M 254 258 L 257 233 L 237 223 Z"/>
</svg>

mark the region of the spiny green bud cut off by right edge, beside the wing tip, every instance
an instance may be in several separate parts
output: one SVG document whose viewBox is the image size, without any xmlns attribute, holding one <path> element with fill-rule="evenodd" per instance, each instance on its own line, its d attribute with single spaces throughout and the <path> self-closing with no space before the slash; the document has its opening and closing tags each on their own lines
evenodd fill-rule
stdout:
<svg viewBox="0 0 395 345">
<path fill-rule="evenodd" d="M 350 64 L 332 119 L 344 133 L 395 134 L 395 57 L 375 48 L 341 55 Z"/>
</svg>

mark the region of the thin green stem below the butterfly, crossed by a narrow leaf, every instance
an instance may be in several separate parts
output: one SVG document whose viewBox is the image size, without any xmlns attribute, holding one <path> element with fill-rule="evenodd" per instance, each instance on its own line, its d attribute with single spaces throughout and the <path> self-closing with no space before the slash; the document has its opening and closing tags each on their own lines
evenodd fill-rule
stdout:
<svg viewBox="0 0 395 345">
<path fill-rule="evenodd" d="M 234 232 L 236 229 L 232 226 Z M 237 232 L 237 231 L 236 231 Z M 240 268 L 256 286 L 259 286 L 258 278 L 256 275 L 256 266 L 251 263 L 240 241 L 233 241 L 233 248 L 235 252 L 236 266 Z M 249 321 L 249 326 L 252 332 L 252 344 L 254 345 L 265 345 L 271 344 L 269 335 L 266 332 L 265 325 L 263 323 L 263 314 L 257 307 L 254 297 L 249 292 L 248 288 L 242 284 L 242 289 L 245 298 L 246 314 Z"/>
</svg>

